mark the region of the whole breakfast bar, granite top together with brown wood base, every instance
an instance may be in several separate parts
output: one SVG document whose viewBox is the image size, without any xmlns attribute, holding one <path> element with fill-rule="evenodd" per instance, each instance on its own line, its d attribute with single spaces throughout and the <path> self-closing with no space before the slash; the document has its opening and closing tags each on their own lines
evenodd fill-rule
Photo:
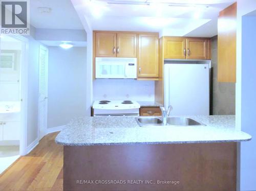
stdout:
<svg viewBox="0 0 256 191">
<path fill-rule="evenodd" d="M 187 116 L 198 126 L 140 127 L 135 117 L 75 118 L 64 146 L 64 190 L 235 190 L 234 115 Z"/>
</svg>

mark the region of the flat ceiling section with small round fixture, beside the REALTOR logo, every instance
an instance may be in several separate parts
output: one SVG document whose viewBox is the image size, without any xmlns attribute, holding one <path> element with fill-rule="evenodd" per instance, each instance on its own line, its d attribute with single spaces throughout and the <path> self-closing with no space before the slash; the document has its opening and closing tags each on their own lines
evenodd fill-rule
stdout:
<svg viewBox="0 0 256 191">
<path fill-rule="evenodd" d="M 50 8 L 51 11 L 47 12 Z M 40 11 L 46 12 L 40 12 Z M 83 29 L 70 0 L 31 0 L 30 22 L 42 29 Z"/>
</svg>

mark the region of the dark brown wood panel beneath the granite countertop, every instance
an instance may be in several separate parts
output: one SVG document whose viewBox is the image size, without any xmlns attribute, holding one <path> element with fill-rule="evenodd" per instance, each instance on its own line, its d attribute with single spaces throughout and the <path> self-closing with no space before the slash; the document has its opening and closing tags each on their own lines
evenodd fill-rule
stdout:
<svg viewBox="0 0 256 191">
<path fill-rule="evenodd" d="M 63 189 L 236 190 L 236 147 L 235 142 L 64 146 Z"/>
</svg>

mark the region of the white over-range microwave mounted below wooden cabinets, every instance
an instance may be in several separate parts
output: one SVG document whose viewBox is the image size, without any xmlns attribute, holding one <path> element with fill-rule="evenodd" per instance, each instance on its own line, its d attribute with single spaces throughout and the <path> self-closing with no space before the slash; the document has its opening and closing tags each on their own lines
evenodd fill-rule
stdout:
<svg viewBox="0 0 256 191">
<path fill-rule="evenodd" d="M 137 58 L 95 58 L 95 78 L 137 78 Z"/>
</svg>

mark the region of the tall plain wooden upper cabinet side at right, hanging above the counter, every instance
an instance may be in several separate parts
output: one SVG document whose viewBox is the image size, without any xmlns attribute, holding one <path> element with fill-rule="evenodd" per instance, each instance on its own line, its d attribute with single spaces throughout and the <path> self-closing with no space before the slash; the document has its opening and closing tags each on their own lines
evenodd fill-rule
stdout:
<svg viewBox="0 0 256 191">
<path fill-rule="evenodd" d="M 236 82 L 237 3 L 220 12 L 218 18 L 218 82 Z"/>
</svg>

